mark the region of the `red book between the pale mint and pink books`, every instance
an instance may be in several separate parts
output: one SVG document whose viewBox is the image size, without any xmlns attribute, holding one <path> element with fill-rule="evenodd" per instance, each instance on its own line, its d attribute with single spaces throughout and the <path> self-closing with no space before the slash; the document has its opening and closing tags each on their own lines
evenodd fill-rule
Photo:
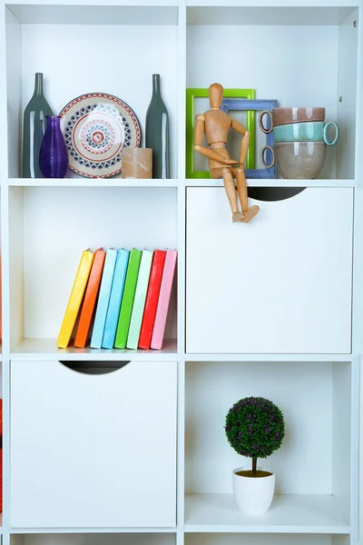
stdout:
<svg viewBox="0 0 363 545">
<path fill-rule="evenodd" d="M 143 348 L 144 350 L 149 350 L 150 343 L 152 342 L 152 330 L 159 301 L 160 286 L 162 284 L 165 256 L 166 252 L 163 250 L 155 250 L 153 253 L 152 270 L 150 272 L 149 287 L 143 309 L 142 329 L 139 338 L 139 348 Z"/>
</svg>

